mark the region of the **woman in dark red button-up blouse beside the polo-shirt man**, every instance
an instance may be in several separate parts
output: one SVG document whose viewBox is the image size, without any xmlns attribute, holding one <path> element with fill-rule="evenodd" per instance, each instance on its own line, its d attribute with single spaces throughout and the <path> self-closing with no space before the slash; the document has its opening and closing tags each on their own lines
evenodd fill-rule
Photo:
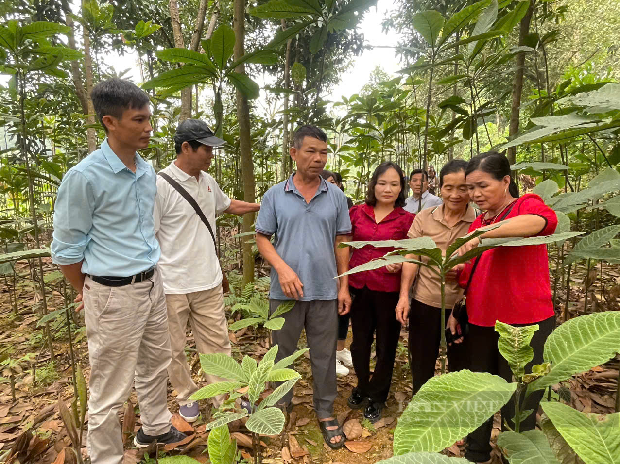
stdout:
<svg viewBox="0 0 620 464">
<path fill-rule="evenodd" d="M 405 177 L 399 165 L 384 162 L 374 170 L 368 185 L 366 203 L 350 209 L 353 240 L 402 240 L 414 222 L 405 211 Z M 367 245 L 353 250 L 350 268 L 380 258 L 394 248 Z M 349 276 L 349 289 L 355 295 L 351 307 L 353 343 L 351 354 L 357 374 L 357 387 L 348 398 L 352 408 L 365 406 L 364 417 L 371 422 L 381 418 L 392 382 L 394 357 L 401 323 L 394 309 L 401 289 L 402 264 L 387 265 Z M 370 379 L 370 348 L 376 333 L 376 366 Z"/>
</svg>

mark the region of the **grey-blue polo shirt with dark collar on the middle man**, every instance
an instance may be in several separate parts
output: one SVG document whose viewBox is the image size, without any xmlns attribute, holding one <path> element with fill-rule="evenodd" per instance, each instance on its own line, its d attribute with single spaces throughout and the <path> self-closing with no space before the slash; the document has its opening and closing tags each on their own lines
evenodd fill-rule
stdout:
<svg viewBox="0 0 620 464">
<path fill-rule="evenodd" d="M 321 179 L 306 203 L 293 183 L 294 175 L 267 190 L 255 229 L 263 235 L 275 234 L 275 251 L 304 286 L 301 301 L 335 300 L 338 291 L 334 276 L 338 273 L 334 243 L 336 235 L 351 234 L 347 197 L 337 186 Z M 288 300 L 273 268 L 269 297 Z"/>
</svg>

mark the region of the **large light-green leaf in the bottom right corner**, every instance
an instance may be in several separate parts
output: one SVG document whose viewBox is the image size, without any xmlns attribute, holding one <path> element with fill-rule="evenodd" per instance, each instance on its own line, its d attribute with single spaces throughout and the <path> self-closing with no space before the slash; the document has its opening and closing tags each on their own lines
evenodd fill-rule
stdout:
<svg viewBox="0 0 620 464">
<path fill-rule="evenodd" d="M 620 413 L 582 413 L 568 405 L 541 403 L 557 431 L 586 464 L 620 464 Z"/>
</svg>

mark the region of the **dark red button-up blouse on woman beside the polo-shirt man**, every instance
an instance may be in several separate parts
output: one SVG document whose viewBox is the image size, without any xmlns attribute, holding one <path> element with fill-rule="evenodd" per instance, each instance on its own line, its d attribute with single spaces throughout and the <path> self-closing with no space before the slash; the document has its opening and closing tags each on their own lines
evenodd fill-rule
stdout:
<svg viewBox="0 0 620 464">
<path fill-rule="evenodd" d="M 358 204 L 349 210 L 351 218 L 353 241 L 361 240 L 403 240 L 407 238 L 407 231 L 414 222 L 415 214 L 405 211 L 401 207 L 394 208 L 383 221 L 376 223 L 374 208 L 368 204 Z M 374 248 L 366 245 L 364 248 L 353 248 L 349 261 L 349 269 L 368 263 L 375 258 L 381 258 L 386 253 L 393 252 L 393 247 Z M 351 274 L 349 285 L 356 289 L 364 286 L 377 292 L 398 292 L 401 290 L 401 273 L 389 273 L 385 267 Z"/>
</svg>

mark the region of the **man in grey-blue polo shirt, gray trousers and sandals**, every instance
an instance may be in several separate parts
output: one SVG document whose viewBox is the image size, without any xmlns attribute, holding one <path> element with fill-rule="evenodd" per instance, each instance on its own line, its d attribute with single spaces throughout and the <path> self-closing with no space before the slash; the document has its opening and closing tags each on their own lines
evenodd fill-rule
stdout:
<svg viewBox="0 0 620 464">
<path fill-rule="evenodd" d="M 293 354 L 306 329 L 314 380 L 314 410 L 332 449 L 344 444 L 342 428 L 333 417 L 336 385 L 338 315 L 351 307 L 348 248 L 338 248 L 351 234 L 347 198 L 321 178 L 327 162 L 327 136 L 315 126 L 301 126 L 293 139 L 291 158 L 297 171 L 263 196 L 256 221 L 256 244 L 272 266 L 270 311 L 282 300 L 297 300 L 273 331 L 276 361 Z M 275 234 L 273 244 L 270 237 Z M 288 408 L 293 392 L 283 397 Z"/>
</svg>

